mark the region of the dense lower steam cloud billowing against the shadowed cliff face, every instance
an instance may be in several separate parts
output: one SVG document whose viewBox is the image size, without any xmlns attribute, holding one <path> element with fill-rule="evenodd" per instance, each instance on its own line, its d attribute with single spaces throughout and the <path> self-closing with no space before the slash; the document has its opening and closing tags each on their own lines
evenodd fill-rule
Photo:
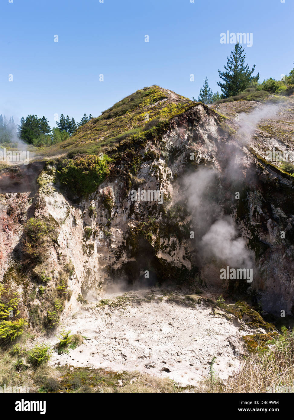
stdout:
<svg viewBox="0 0 294 420">
<path fill-rule="evenodd" d="M 223 213 L 218 175 L 212 168 L 199 168 L 185 178 L 188 193 L 188 209 L 202 261 L 215 259 L 232 267 L 250 268 L 252 252 L 240 236 L 233 218 Z"/>
</svg>

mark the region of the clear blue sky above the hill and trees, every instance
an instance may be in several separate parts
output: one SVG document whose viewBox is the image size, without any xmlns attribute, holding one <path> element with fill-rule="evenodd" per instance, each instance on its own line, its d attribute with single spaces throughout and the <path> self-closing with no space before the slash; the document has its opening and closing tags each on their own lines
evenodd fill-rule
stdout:
<svg viewBox="0 0 294 420">
<path fill-rule="evenodd" d="M 220 44 L 226 31 L 252 32 L 249 66 L 280 79 L 294 67 L 293 18 L 294 0 L 1 0 L 0 113 L 52 126 L 152 84 L 192 98 L 207 76 L 215 92 L 234 48 Z"/>
</svg>

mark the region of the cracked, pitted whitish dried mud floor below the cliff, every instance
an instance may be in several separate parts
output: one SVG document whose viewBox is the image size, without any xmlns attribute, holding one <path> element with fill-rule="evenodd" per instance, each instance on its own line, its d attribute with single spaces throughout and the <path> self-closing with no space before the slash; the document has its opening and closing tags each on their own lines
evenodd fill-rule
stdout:
<svg viewBox="0 0 294 420">
<path fill-rule="evenodd" d="M 143 297 L 150 289 L 134 292 Z M 166 302 L 165 298 L 161 302 L 133 302 L 125 308 L 97 307 L 102 298 L 118 295 L 123 292 L 88 299 L 89 304 L 60 325 L 57 335 L 70 330 L 87 338 L 68 354 L 55 353 L 51 365 L 136 370 L 168 376 L 181 385 L 196 385 L 207 378 L 213 357 L 215 374 L 220 378 L 227 378 L 239 367 L 243 353 L 241 336 L 248 333 L 248 328 L 236 318 L 227 319 L 220 310 L 213 313 L 211 306 L 203 303 L 189 307 Z M 160 289 L 155 296 L 160 296 Z M 50 343 L 57 341 L 55 334 Z"/>
</svg>

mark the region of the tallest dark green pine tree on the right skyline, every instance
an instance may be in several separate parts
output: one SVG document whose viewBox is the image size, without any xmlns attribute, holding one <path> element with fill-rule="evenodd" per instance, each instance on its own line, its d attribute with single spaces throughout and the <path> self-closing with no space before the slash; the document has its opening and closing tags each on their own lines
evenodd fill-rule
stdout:
<svg viewBox="0 0 294 420">
<path fill-rule="evenodd" d="M 242 92 L 249 86 L 251 81 L 258 81 L 259 79 L 259 73 L 257 76 L 252 76 L 255 65 L 251 70 L 249 69 L 248 64 L 245 66 L 246 54 L 243 55 L 243 53 L 244 48 L 242 48 L 238 39 L 234 51 L 231 51 L 231 57 L 227 58 L 228 62 L 225 66 L 226 71 L 221 72 L 218 70 L 220 79 L 224 81 L 224 83 L 220 81 L 217 82 L 223 93 L 223 98 L 238 95 L 239 92 Z"/>
</svg>

